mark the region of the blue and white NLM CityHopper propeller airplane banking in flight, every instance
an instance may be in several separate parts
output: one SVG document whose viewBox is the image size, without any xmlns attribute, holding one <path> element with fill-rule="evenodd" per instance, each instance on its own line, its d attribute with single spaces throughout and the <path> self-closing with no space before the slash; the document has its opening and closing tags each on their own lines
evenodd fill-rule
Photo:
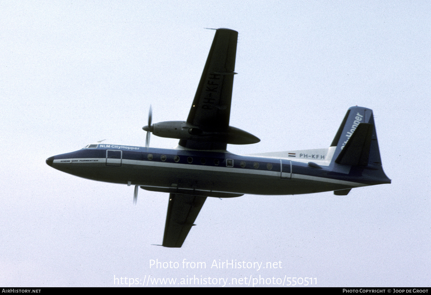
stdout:
<svg viewBox="0 0 431 295">
<path fill-rule="evenodd" d="M 162 246 L 180 248 L 207 197 L 244 194 L 296 195 L 390 183 L 384 174 L 373 112 L 347 110 L 325 149 L 235 155 L 227 144 L 259 142 L 229 126 L 238 32 L 219 28 L 197 87 L 187 121 L 151 124 L 145 147 L 91 143 L 75 152 L 47 158 L 60 171 L 91 180 L 169 193 Z M 175 149 L 150 148 L 150 134 L 179 139 Z"/>
</svg>

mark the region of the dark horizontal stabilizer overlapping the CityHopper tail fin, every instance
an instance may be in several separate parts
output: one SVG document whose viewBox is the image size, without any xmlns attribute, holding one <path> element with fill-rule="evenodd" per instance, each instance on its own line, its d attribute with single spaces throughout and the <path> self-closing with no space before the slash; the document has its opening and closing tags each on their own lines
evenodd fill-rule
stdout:
<svg viewBox="0 0 431 295">
<path fill-rule="evenodd" d="M 367 166 L 370 154 L 373 124 L 360 123 L 338 155 L 335 163 L 341 165 Z"/>
</svg>

